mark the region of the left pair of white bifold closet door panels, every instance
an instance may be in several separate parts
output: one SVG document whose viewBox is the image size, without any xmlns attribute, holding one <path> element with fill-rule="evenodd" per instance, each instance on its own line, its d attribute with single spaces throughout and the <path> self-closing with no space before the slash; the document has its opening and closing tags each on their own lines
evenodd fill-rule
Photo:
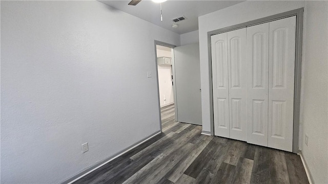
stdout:
<svg viewBox="0 0 328 184">
<path fill-rule="evenodd" d="M 246 28 L 211 37 L 214 134 L 247 139 Z"/>
</svg>

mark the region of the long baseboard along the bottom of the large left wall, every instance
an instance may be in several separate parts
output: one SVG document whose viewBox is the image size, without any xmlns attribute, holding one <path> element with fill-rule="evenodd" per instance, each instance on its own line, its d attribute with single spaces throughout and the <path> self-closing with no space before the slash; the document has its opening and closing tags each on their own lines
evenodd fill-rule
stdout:
<svg viewBox="0 0 328 184">
<path fill-rule="evenodd" d="M 71 184 L 71 183 L 77 181 L 78 179 L 80 179 L 80 178 L 82 178 L 82 177 L 90 174 L 91 172 L 95 171 L 96 169 L 100 168 L 101 166 L 106 165 L 107 163 L 111 162 L 113 159 L 115 159 L 115 158 L 117 158 L 117 157 L 119 157 L 119 156 L 121 156 L 121 155 L 129 152 L 133 148 L 135 148 L 135 147 L 137 147 L 137 146 L 145 143 L 146 141 L 152 139 L 153 137 L 155 137 L 156 135 L 158 135 L 160 133 L 161 133 L 161 131 L 157 131 L 157 132 L 152 133 L 151 135 L 149 135 L 145 139 L 142 139 L 142 140 L 138 141 L 137 143 L 129 146 L 128 148 L 126 148 L 126 149 L 124 149 L 122 151 L 117 152 L 116 154 L 114 154 L 114 155 L 112 155 L 112 156 L 110 156 L 110 157 L 108 157 L 108 158 L 100 161 L 99 163 L 96 163 L 95 165 L 93 165 L 93 166 L 85 169 L 84 171 L 81 171 L 81 172 L 75 174 L 74 176 L 72 176 L 72 177 L 70 177 L 70 178 L 68 178 L 68 179 L 66 179 L 64 181 L 61 181 L 60 184 L 66 184 L 66 183 Z"/>
</svg>

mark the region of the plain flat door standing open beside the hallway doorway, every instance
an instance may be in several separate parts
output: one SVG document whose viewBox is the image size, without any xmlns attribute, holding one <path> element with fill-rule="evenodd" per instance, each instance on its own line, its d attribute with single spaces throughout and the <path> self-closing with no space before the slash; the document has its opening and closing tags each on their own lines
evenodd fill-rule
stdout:
<svg viewBox="0 0 328 184">
<path fill-rule="evenodd" d="M 174 48 L 177 121 L 202 125 L 199 44 Z"/>
</svg>

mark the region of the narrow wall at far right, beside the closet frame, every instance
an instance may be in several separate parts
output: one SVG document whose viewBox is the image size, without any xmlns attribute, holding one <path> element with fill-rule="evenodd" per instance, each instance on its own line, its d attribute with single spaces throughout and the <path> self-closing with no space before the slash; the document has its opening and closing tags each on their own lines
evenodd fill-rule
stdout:
<svg viewBox="0 0 328 184">
<path fill-rule="evenodd" d="M 328 183 L 328 2 L 306 1 L 304 16 L 302 154 L 315 183 Z"/>
</svg>

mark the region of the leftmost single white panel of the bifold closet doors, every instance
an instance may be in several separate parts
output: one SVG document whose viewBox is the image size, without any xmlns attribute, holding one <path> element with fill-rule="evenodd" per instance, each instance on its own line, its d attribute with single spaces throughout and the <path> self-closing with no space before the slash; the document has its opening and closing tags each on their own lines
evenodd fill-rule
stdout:
<svg viewBox="0 0 328 184">
<path fill-rule="evenodd" d="M 211 36 L 214 134 L 230 137 L 227 33 Z"/>
</svg>

